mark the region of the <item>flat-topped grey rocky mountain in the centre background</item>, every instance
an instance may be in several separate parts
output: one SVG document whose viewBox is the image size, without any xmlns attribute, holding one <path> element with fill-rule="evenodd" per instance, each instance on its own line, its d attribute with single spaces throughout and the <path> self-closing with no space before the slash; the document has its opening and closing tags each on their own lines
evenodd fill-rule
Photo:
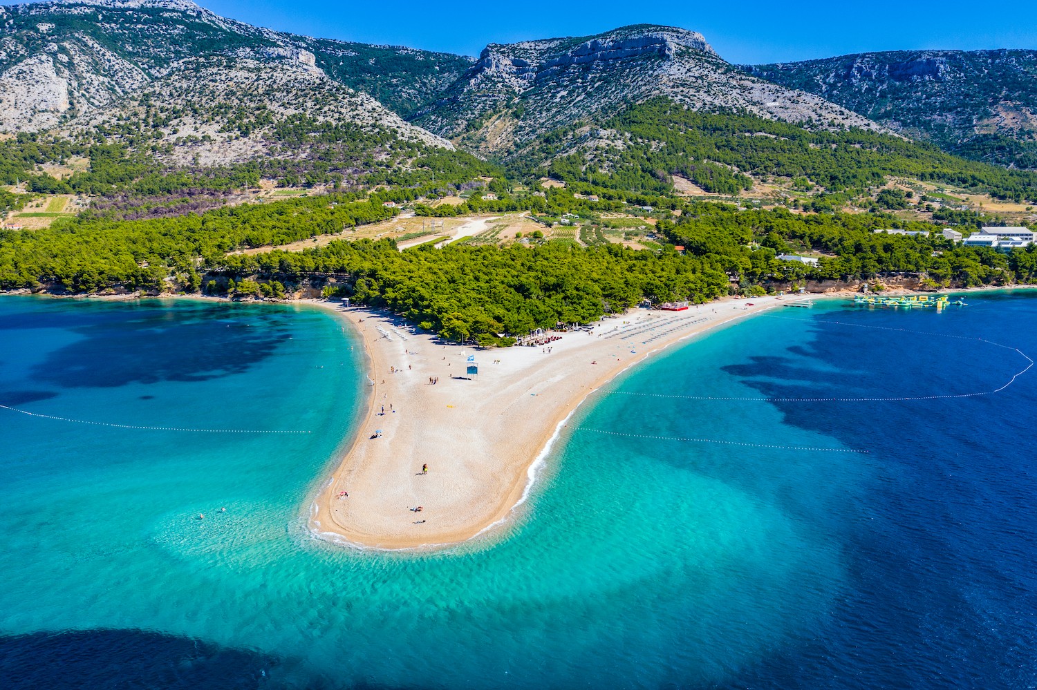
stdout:
<svg viewBox="0 0 1037 690">
<path fill-rule="evenodd" d="M 582 38 L 489 45 L 413 121 L 470 148 L 501 154 L 556 127 L 599 120 L 656 96 L 694 110 L 877 128 L 816 95 L 747 76 L 699 33 L 650 25 Z"/>
</svg>

